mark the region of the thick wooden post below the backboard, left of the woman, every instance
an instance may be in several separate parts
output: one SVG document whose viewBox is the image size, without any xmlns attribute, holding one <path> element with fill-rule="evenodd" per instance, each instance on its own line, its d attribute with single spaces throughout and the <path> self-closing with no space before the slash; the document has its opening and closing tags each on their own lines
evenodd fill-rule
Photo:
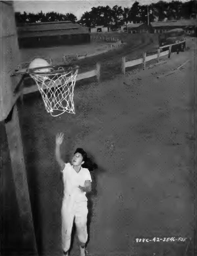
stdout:
<svg viewBox="0 0 197 256">
<path fill-rule="evenodd" d="M 38 255 L 16 104 L 5 120 L 5 127 L 10 149 L 18 210 L 21 219 L 23 243 L 25 250 L 28 250 L 27 255 Z"/>
</svg>

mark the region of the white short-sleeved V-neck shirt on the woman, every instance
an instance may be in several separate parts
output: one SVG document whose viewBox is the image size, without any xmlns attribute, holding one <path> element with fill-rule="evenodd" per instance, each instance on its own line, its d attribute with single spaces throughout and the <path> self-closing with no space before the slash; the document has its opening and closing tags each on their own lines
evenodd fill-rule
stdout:
<svg viewBox="0 0 197 256">
<path fill-rule="evenodd" d="M 86 192 L 82 192 L 78 186 L 85 185 L 85 181 L 91 181 L 90 172 L 86 168 L 80 169 L 77 173 L 70 163 L 65 163 L 62 170 L 64 183 L 64 196 L 71 197 L 74 201 L 87 201 Z"/>
</svg>

